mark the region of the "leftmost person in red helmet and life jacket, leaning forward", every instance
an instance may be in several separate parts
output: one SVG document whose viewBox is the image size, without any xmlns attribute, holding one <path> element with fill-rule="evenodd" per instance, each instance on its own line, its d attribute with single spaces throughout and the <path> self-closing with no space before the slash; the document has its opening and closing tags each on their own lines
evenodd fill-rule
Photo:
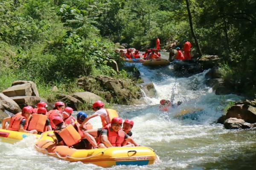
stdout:
<svg viewBox="0 0 256 170">
<path fill-rule="evenodd" d="M 2 121 L 2 128 L 5 129 L 7 127 L 6 122 L 10 122 L 7 130 L 37 134 L 38 131 L 35 129 L 27 130 L 32 113 L 32 107 L 26 106 L 22 109 L 21 114 L 17 113 L 12 117 L 4 118 Z"/>
</svg>

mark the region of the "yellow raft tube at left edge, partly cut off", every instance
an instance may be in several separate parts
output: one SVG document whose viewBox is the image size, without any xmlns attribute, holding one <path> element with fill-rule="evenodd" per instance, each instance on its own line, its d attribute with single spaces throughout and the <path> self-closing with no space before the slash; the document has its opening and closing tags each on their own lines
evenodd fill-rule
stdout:
<svg viewBox="0 0 256 170">
<path fill-rule="evenodd" d="M 21 141 L 22 139 L 26 138 L 29 135 L 36 136 L 38 139 L 41 136 L 41 135 L 32 134 L 32 133 L 0 129 L 0 141 L 1 142 L 15 143 L 15 142 Z"/>
</svg>

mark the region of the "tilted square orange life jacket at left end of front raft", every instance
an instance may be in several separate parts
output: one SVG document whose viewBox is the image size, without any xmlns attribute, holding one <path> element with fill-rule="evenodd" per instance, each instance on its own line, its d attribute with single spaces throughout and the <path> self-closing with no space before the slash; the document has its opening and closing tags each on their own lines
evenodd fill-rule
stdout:
<svg viewBox="0 0 256 170">
<path fill-rule="evenodd" d="M 80 134 L 72 125 L 68 125 L 67 127 L 59 130 L 57 133 L 61 136 L 67 146 L 77 144 L 81 140 Z"/>
</svg>

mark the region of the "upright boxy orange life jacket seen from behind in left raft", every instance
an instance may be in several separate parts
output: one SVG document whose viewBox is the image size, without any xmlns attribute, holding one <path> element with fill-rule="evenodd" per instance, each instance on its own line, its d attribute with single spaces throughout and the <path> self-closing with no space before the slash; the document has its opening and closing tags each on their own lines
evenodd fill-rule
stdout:
<svg viewBox="0 0 256 170">
<path fill-rule="evenodd" d="M 48 119 L 47 115 L 43 114 L 32 114 L 32 119 L 29 122 L 28 130 L 37 130 L 38 132 L 47 131 L 46 120 Z"/>
</svg>

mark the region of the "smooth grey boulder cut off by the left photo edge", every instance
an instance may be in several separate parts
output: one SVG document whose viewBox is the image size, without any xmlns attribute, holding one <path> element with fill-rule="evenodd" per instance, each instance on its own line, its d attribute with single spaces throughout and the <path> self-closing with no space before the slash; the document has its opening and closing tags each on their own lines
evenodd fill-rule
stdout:
<svg viewBox="0 0 256 170">
<path fill-rule="evenodd" d="M 21 111 L 19 105 L 13 99 L 2 93 L 0 93 L 0 106 L 2 111 L 7 110 L 14 114 Z"/>
</svg>

